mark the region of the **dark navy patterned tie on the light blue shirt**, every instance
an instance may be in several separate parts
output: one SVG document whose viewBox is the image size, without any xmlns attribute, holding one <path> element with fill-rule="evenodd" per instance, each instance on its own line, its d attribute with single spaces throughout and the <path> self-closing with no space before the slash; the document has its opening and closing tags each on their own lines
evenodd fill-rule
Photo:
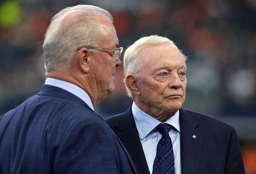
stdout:
<svg viewBox="0 0 256 174">
<path fill-rule="evenodd" d="M 161 123 L 156 129 L 162 134 L 162 138 L 157 144 L 157 155 L 154 160 L 153 174 L 175 174 L 173 145 L 169 136 L 169 130 L 172 129 L 172 126 Z"/>
</svg>

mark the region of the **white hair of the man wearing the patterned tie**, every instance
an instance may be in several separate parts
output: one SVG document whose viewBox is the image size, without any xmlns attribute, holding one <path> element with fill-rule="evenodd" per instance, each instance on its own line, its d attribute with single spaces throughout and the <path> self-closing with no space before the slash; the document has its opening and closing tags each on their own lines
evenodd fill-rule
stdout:
<svg viewBox="0 0 256 174">
<path fill-rule="evenodd" d="M 135 79 L 138 79 L 140 77 L 139 70 L 142 66 L 142 63 L 140 62 L 140 59 L 137 58 L 138 54 L 142 51 L 143 48 L 157 45 L 157 44 L 170 44 L 175 46 L 177 49 L 178 47 L 175 45 L 175 43 L 172 40 L 169 40 L 166 37 L 161 37 L 158 35 L 152 35 L 152 36 L 145 36 L 140 38 L 139 40 L 135 41 L 132 45 L 130 45 L 123 56 L 123 67 L 124 67 L 124 77 L 126 77 L 127 74 L 131 73 L 134 75 Z M 180 49 L 178 49 L 184 59 L 184 62 L 186 62 L 186 56 L 182 53 Z M 125 90 L 128 96 L 132 97 L 132 92 L 127 88 L 125 79 L 123 80 L 125 85 Z M 133 97 L 132 97 L 133 98 Z"/>
</svg>

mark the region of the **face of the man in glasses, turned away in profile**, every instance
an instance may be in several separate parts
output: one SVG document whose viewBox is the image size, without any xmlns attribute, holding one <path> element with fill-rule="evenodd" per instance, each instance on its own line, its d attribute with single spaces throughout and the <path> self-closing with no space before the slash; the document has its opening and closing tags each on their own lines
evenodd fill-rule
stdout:
<svg viewBox="0 0 256 174">
<path fill-rule="evenodd" d="M 109 19 L 99 17 L 99 43 L 98 46 L 106 49 L 118 47 L 116 30 Z M 97 95 L 97 103 L 101 102 L 108 94 L 115 90 L 114 74 L 116 66 L 121 64 L 120 60 L 115 60 L 109 53 L 103 51 L 90 52 L 93 57 L 93 76 L 95 84 L 94 93 Z M 92 84 L 91 84 L 92 85 Z"/>
</svg>

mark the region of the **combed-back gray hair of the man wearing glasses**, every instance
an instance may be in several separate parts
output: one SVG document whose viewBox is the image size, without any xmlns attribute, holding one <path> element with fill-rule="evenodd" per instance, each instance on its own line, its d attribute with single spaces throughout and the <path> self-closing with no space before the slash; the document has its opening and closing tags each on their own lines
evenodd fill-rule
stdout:
<svg viewBox="0 0 256 174">
<path fill-rule="evenodd" d="M 76 16 L 72 18 L 72 14 Z M 95 17 L 99 15 L 113 23 L 113 17 L 108 11 L 92 5 L 67 7 L 52 17 L 42 45 L 46 72 L 69 72 L 78 48 L 86 45 L 98 46 L 99 23 Z"/>
</svg>

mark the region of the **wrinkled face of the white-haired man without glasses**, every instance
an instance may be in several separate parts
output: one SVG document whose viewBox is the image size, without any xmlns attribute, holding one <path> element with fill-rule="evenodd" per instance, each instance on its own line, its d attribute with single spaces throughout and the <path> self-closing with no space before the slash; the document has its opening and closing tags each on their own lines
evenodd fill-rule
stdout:
<svg viewBox="0 0 256 174">
<path fill-rule="evenodd" d="M 169 44 L 146 47 L 138 54 L 141 61 L 135 99 L 150 115 L 179 110 L 185 101 L 186 65 L 178 49 Z"/>
</svg>

